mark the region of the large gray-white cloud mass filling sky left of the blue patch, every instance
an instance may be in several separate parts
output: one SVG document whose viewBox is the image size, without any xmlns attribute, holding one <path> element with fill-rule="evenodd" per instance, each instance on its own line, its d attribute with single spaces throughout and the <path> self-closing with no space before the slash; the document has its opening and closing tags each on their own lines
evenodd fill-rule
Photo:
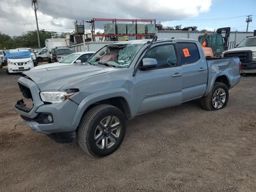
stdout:
<svg viewBox="0 0 256 192">
<path fill-rule="evenodd" d="M 75 20 L 92 18 L 148 18 L 170 22 L 196 17 L 208 12 L 211 5 L 212 0 L 72 0 L 72 3 L 62 0 L 61 9 L 58 1 L 42 0 L 38 3 L 38 25 L 42 29 L 71 32 Z M 34 10 L 30 9 L 30 0 L 1 0 L 1 32 L 20 35 L 29 12 L 24 31 L 35 30 Z M 85 28 L 90 31 L 88 23 Z M 98 22 L 96 28 L 102 29 L 103 22 Z"/>
</svg>

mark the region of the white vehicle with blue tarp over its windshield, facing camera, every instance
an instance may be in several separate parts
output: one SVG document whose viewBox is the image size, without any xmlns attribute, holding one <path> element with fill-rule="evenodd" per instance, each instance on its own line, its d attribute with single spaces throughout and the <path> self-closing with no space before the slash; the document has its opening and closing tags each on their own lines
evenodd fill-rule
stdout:
<svg viewBox="0 0 256 192">
<path fill-rule="evenodd" d="M 21 52 L 22 56 L 18 54 L 13 54 Z M 8 58 L 11 56 L 11 58 Z M 6 54 L 7 57 L 7 69 L 6 73 L 19 73 L 32 69 L 34 67 L 34 62 L 32 60 L 31 54 L 27 49 L 11 49 L 10 54 Z"/>
</svg>

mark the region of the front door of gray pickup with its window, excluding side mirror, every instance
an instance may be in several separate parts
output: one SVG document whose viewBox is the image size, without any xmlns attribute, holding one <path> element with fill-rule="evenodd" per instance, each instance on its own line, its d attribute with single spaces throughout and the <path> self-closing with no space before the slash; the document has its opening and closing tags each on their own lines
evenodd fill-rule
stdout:
<svg viewBox="0 0 256 192">
<path fill-rule="evenodd" d="M 155 45 L 144 58 L 156 59 L 157 66 L 136 73 L 137 114 L 180 104 L 182 67 L 178 65 L 174 44 Z"/>
</svg>

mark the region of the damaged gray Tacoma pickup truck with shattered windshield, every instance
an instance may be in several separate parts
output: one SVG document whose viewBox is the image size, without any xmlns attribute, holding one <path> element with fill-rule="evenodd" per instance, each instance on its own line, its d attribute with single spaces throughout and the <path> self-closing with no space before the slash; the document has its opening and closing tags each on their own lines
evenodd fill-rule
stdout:
<svg viewBox="0 0 256 192">
<path fill-rule="evenodd" d="M 126 119 L 198 98 L 205 110 L 224 108 L 239 65 L 239 58 L 206 59 L 191 39 L 118 42 L 86 64 L 22 73 L 20 91 L 33 104 L 22 99 L 14 109 L 33 131 L 56 142 L 77 140 L 103 157 L 122 143 Z"/>
</svg>

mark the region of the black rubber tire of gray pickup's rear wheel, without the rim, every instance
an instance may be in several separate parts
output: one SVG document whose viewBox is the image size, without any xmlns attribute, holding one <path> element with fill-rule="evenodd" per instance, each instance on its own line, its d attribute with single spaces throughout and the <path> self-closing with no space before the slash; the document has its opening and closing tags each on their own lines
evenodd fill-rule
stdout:
<svg viewBox="0 0 256 192">
<path fill-rule="evenodd" d="M 215 108 L 212 104 L 212 99 L 213 99 L 213 95 L 214 93 L 216 92 L 217 89 L 219 88 L 222 88 L 224 91 L 225 91 L 225 94 L 226 94 L 226 99 L 225 99 L 225 102 L 224 104 L 222 105 L 222 107 L 220 108 Z M 228 103 L 228 88 L 227 86 L 222 83 L 222 82 L 215 82 L 214 85 L 213 85 L 213 88 L 212 88 L 212 93 L 211 94 L 208 94 L 207 96 L 205 97 L 202 97 L 201 98 L 201 105 L 202 105 L 202 108 L 204 110 L 208 110 L 208 111 L 213 111 L 213 110 L 220 110 L 220 109 L 223 109 L 224 107 L 226 107 L 227 103 Z"/>
</svg>

